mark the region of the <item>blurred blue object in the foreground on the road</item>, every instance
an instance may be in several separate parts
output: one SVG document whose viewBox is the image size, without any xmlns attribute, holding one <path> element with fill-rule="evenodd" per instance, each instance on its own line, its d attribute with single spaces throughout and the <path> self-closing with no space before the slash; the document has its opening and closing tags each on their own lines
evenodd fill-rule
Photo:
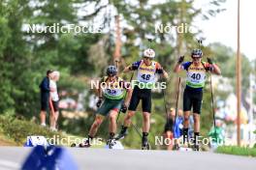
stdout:
<svg viewBox="0 0 256 170">
<path fill-rule="evenodd" d="M 79 169 L 68 151 L 61 147 L 36 146 L 25 159 L 23 170 L 77 170 Z"/>
</svg>

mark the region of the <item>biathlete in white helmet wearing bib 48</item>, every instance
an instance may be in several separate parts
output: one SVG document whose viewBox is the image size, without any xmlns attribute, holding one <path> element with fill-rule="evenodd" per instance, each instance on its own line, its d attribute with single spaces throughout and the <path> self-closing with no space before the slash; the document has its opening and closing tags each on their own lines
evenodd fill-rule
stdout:
<svg viewBox="0 0 256 170">
<path fill-rule="evenodd" d="M 133 63 L 131 66 L 124 69 L 124 72 L 137 71 L 137 80 L 133 84 L 133 94 L 128 108 L 128 113 L 124 117 L 123 126 L 116 139 L 121 139 L 127 134 L 127 128 L 131 125 L 131 118 L 135 115 L 137 106 L 142 100 L 143 105 L 143 138 L 142 149 L 149 149 L 147 135 L 150 128 L 150 113 L 151 113 L 151 89 L 155 85 L 156 73 L 163 74 L 168 78 L 168 73 L 164 71 L 161 65 L 153 61 L 155 52 L 148 48 L 144 50 L 144 59 Z M 134 81 L 133 81 L 134 82 Z"/>
</svg>

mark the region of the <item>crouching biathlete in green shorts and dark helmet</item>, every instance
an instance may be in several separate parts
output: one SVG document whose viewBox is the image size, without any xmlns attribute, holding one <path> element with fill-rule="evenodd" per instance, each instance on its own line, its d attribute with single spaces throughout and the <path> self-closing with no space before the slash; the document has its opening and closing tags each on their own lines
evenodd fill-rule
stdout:
<svg viewBox="0 0 256 170">
<path fill-rule="evenodd" d="M 110 136 L 107 140 L 107 145 L 109 145 L 110 148 L 113 145 L 114 134 L 116 131 L 116 116 L 120 109 L 127 109 L 129 100 L 131 99 L 132 95 L 132 90 L 129 87 L 130 85 L 124 82 L 120 77 L 117 77 L 116 73 L 116 67 L 110 66 L 107 69 L 108 76 L 103 77 L 100 82 L 99 100 L 97 102 L 97 106 L 99 108 L 96 112 L 94 123 L 89 130 L 87 140 L 85 140 L 84 143 L 81 143 L 80 147 L 91 146 L 91 141 L 106 116 L 110 117 L 111 122 L 109 127 Z M 127 91 L 128 95 L 124 101 L 125 91 Z"/>
</svg>

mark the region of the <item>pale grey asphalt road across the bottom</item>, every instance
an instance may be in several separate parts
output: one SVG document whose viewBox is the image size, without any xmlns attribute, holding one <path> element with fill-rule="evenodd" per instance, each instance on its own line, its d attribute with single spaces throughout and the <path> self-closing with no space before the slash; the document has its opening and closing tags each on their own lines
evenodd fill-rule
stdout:
<svg viewBox="0 0 256 170">
<path fill-rule="evenodd" d="M 66 148 L 84 170 L 255 170 L 256 158 L 207 152 Z M 31 148 L 0 147 L 0 169 L 19 169 Z"/>
</svg>

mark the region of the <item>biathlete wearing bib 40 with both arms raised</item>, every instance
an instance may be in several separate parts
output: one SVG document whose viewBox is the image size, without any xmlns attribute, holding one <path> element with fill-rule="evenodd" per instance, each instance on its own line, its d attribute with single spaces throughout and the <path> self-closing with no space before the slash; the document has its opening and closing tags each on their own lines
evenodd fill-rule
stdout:
<svg viewBox="0 0 256 170">
<path fill-rule="evenodd" d="M 207 72 L 221 74 L 219 67 L 212 63 L 202 61 L 203 52 L 201 49 L 193 49 L 190 62 L 183 62 L 184 56 L 179 57 L 175 72 L 186 71 L 186 86 L 183 93 L 183 143 L 188 144 L 188 126 L 190 110 L 193 107 L 194 118 L 194 151 L 199 151 L 198 137 L 200 136 L 200 114 L 203 99 L 203 88 L 207 79 Z"/>
</svg>

